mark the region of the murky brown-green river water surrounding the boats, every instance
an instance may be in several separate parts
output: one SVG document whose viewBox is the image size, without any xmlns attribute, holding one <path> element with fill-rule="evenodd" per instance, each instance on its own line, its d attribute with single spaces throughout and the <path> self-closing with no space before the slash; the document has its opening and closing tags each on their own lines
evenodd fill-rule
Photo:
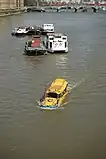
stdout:
<svg viewBox="0 0 106 159">
<path fill-rule="evenodd" d="M 27 57 L 14 27 L 53 23 L 69 53 Z M 71 87 L 64 110 L 36 100 L 57 77 Z M 106 14 L 26 13 L 0 18 L 0 159 L 106 159 Z"/>
</svg>

